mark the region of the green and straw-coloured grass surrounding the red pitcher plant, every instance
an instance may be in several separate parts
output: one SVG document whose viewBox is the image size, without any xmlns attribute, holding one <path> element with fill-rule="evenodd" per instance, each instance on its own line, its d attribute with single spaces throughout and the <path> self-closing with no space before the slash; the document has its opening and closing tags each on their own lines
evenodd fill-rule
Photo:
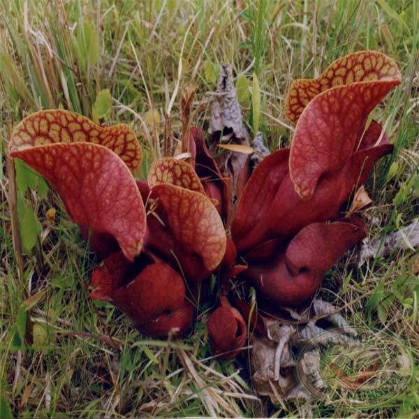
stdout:
<svg viewBox="0 0 419 419">
<path fill-rule="evenodd" d="M 24 258 L 15 256 L 16 211 L 8 206 L 13 184 L 6 173 L 10 128 L 41 108 L 97 117 L 98 93 L 109 89 L 112 109 L 105 122 L 133 126 L 149 162 L 162 147 L 163 115 L 170 117 L 174 138 L 181 135 L 179 91 L 189 84 L 197 88 L 193 124 L 207 126 L 207 93 L 226 62 L 235 78 L 251 82 L 256 73 L 259 127 L 276 149 L 292 136 L 284 117 L 292 80 L 316 76 L 349 52 L 380 50 L 397 61 L 404 82 L 374 111 L 396 147 L 367 184 L 374 207 L 363 218 L 370 235 L 379 236 L 419 214 L 418 22 L 417 0 L 0 0 L 2 414 L 304 416 L 302 402 L 272 405 L 255 397 L 245 362 L 211 358 L 208 310 L 182 342 L 152 341 L 116 309 L 89 300 L 94 259 L 54 192 L 24 168 L 17 168 Z M 243 107 L 251 131 L 251 98 Z M 149 117 L 153 109 L 159 118 Z M 55 217 L 50 207 L 57 209 Z M 418 255 L 395 251 L 359 270 L 353 261 L 341 260 L 321 295 L 342 307 L 349 323 L 395 332 L 411 348 L 415 374 L 391 404 L 359 411 L 314 402 L 311 413 L 418 416 Z M 29 346 L 28 314 L 36 334 Z"/>
</svg>

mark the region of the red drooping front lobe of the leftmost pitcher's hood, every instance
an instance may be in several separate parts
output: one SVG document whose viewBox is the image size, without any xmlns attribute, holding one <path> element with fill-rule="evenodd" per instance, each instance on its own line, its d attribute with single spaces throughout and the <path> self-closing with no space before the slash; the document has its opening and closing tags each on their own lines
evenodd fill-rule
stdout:
<svg viewBox="0 0 419 419">
<path fill-rule="evenodd" d="M 71 219 L 110 233 L 128 260 L 140 253 L 145 208 L 135 180 L 110 149 L 87 142 L 53 144 L 10 153 L 34 168 L 64 200 Z"/>
</svg>

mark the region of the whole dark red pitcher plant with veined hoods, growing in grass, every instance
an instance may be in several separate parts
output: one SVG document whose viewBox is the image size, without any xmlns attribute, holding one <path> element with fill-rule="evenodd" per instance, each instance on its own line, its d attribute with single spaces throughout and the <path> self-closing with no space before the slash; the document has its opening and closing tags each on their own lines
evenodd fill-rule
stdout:
<svg viewBox="0 0 419 419">
<path fill-rule="evenodd" d="M 209 336 L 214 353 L 228 359 L 246 344 L 244 318 L 264 333 L 260 314 L 227 297 L 235 277 L 256 289 L 260 307 L 299 307 L 367 235 L 362 220 L 342 209 L 392 152 L 369 115 L 401 82 L 395 62 L 374 51 L 295 80 L 285 105 L 295 124 L 291 147 L 240 179 L 222 175 L 197 127 L 185 130 L 190 162 L 165 157 L 136 179 L 142 149 L 131 128 L 63 110 L 25 118 L 11 135 L 10 156 L 50 182 L 103 259 L 90 296 L 115 304 L 141 332 L 184 334 L 196 316 L 198 284 L 216 274 L 220 307 Z M 244 185 L 233 207 L 232 184 Z"/>
</svg>

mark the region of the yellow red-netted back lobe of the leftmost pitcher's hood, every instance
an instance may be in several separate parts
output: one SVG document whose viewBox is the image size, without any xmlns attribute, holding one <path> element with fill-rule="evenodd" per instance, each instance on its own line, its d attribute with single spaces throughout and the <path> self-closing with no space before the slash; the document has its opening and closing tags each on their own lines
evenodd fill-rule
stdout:
<svg viewBox="0 0 419 419">
<path fill-rule="evenodd" d="M 101 126 L 67 110 L 41 110 L 29 115 L 13 130 L 10 152 L 63 142 L 92 142 L 111 149 L 132 172 L 140 168 L 142 149 L 126 124 Z"/>
</svg>

